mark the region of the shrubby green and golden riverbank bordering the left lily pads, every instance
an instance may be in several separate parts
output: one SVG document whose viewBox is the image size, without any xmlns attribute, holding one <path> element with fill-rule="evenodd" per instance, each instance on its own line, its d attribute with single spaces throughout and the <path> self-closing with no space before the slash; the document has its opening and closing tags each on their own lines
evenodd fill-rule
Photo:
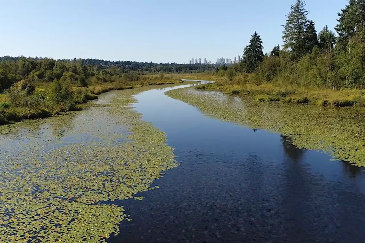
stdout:
<svg viewBox="0 0 365 243">
<path fill-rule="evenodd" d="M 24 119 L 51 117 L 65 111 L 78 111 L 85 108 L 85 105 L 82 104 L 89 100 L 95 100 L 97 95 L 110 90 L 180 83 L 182 81 L 179 77 L 163 75 L 143 76 L 138 82 L 99 82 L 85 88 L 71 84 L 67 87 L 61 83 L 55 87 L 53 82 L 28 84 L 21 81 L 18 85 L 14 85 L 9 92 L 0 94 L 0 125 L 11 124 Z M 29 85 L 32 85 L 32 92 L 28 92 Z M 55 101 L 49 98 L 54 96 L 57 96 L 53 99 Z"/>
</svg>

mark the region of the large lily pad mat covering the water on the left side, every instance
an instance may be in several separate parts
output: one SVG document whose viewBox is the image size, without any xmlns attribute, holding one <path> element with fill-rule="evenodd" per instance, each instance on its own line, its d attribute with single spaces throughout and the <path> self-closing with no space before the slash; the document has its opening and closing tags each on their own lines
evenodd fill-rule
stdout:
<svg viewBox="0 0 365 243">
<path fill-rule="evenodd" d="M 157 87 L 1 126 L 0 242 L 105 242 L 118 234 L 132 218 L 113 202 L 157 189 L 153 181 L 178 166 L 165 134 L 130 107 L 133 95 Z"/>
</svg>

